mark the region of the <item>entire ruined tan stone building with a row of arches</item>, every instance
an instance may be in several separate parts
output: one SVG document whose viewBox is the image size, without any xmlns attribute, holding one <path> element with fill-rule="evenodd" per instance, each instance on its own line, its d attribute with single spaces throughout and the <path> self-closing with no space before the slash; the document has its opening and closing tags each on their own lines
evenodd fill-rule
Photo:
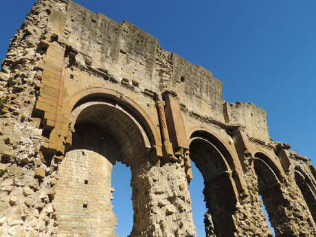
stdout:
<svg viewBox="0 0 316 237">
<path fill-rule="evenodd" d="M 315 237 L 316 170 L 274 142 L 266 113 L 230 104 L 210 71 L 73 1 L 39 0 L 0 72 L 0 236 L 117 236 L 116 162 L 131 168 L 131 237 Z"/>
</svg>

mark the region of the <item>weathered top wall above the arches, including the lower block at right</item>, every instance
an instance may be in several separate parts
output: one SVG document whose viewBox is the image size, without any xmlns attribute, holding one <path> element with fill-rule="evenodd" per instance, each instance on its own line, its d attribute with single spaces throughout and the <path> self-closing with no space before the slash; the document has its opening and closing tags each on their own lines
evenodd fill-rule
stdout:
<svg viewBox="0 0 316 237">
<path fill-rule="evenodd" d="M 58 42 L 76 51 L 74 67 L 105 71 L 115 83 L 124 82 L 139 93 L 174 91 L 183 111 L 241 124 L 250 137 L 269 142 L 265 111 L 247 103 L 225 108 L 223 83 L 210 71 L 162 49 L 157 38 L 128 21 L 117 23 L 74 1 L 64 2 L 66 10 L 52 9 L 48 25 Z"/>
</svg>

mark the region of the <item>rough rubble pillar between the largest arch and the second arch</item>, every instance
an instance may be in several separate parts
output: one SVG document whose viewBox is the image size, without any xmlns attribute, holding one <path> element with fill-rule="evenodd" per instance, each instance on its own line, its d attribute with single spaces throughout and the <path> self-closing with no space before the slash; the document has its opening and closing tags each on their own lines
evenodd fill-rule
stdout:
<svg viewBox="0 0 316 237">
<path fill-rule="evenodd" d="M 131 168 L 134 223 L 131 237 L 196 236 L 183 161 Z"/>
</svg>

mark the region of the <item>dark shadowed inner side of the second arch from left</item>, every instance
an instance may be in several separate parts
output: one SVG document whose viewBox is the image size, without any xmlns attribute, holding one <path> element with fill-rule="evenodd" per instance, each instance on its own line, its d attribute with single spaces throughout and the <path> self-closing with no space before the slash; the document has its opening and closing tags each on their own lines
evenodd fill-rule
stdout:
<svg viewBox="0 0 316 237">
<path fill-rule="evenodd" d="M 194 137 L 193 134 L 190 142 L 190 158 L 204 181 L 203 194 L 207 207 L 204 217 L 205 234 L 234 236 L 236 227 L 232 215 L 236 210 L 237 196 L 232 171 L 226 159 L 227 150 L 223 149 L 223 144 L 219 146 L 207 138 Z"/>
</svg>

